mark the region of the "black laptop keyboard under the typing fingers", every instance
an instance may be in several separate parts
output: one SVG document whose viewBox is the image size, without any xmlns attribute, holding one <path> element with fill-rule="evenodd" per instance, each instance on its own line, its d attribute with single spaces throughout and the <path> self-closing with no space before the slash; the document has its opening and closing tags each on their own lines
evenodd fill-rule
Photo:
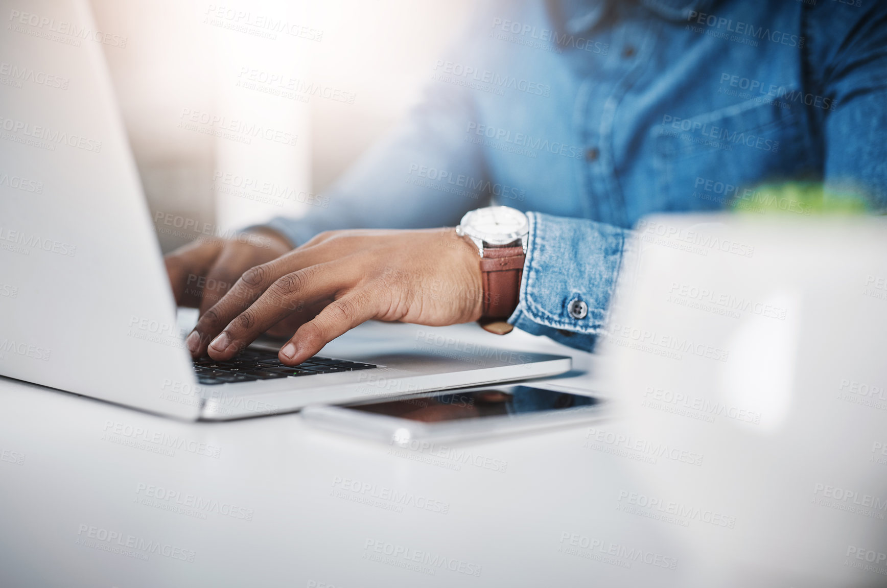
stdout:
<svg viewBox="0 0 887 588">
<path fill-rule="evenodd" d="M 276 380 L 298 376 L 316 376 L 318 373 L 353 372 L 379 367 L 333 357 L 311 357 L 299 365 L 280 363 L 276 353 L 247 349 L 228 361 L 216 361 L 210 357 L 194 360 L 197 381 L 205 386 L 230 384 L 240 381 Z"/>
</svg>

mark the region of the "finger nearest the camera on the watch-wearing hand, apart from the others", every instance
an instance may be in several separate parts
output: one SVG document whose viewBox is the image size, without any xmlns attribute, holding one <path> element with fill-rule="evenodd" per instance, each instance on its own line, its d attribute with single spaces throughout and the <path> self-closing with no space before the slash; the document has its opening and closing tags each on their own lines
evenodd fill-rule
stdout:
<svg viewBox="0 0 887 588">
<path fill-rule="evenodd" d="M 361 323 L 378 316 L 381 296 L 363 289 L 330 302 L 317 317 L 302 325 L 280 349 L 278 358 L 286 365 L 299 365 L 318 354 L 326 343 Z"/>
</svg>

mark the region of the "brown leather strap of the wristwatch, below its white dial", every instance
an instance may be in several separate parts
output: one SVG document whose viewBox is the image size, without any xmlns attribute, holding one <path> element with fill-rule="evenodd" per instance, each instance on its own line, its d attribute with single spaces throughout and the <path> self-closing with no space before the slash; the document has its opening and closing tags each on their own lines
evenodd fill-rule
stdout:
<svg viewBox="0 0 887 588">
<path fill-rule="evenodd" d="M 483 247 L 483 318 L 508 318 L 521 289 L 523 247 Z"/>
</svg>

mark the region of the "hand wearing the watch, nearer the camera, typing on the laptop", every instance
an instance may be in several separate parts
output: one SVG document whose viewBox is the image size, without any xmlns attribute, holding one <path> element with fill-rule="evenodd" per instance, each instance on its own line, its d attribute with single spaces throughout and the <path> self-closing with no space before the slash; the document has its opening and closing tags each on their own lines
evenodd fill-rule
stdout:
<svg viewBox="0 0 887 588">
<path fill-rule="evenodd" d="M 481 317 L 477 247 L 454 229 L 330 231 L 247 270 L 203 313 L 194 357 L 230 359 L 271 325 L 297 325 L 279 359 L 298 365 L 366 320 L 452 325 Z M 211 342 L 210 342 L 211 341 Z"/>
</svg>

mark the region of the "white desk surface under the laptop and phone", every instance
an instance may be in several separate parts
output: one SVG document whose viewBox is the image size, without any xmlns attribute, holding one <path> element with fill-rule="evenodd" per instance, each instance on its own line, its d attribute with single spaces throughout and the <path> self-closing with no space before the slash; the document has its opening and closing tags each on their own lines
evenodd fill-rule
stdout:
<svg viewBox="0 0 887 588">
<path fill-rule="evenodd" d="M 448 329 L 597 369 L 525 333 Z M 626 512 L 620 491 L 643 483 L 636 459 L 590 449 L 587 433 L 397 454 L 298 414 L 184 423 L 0 379 L 0 585 L 685 586 L 732 565 L 688 546 L 688 534 L 714 532 L 703 523 Z M 795 584 L 778 585 L 815 584 L 791 566 L 801 548 L 786 545 L 776 576 Z"/>
</svg>

